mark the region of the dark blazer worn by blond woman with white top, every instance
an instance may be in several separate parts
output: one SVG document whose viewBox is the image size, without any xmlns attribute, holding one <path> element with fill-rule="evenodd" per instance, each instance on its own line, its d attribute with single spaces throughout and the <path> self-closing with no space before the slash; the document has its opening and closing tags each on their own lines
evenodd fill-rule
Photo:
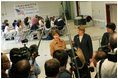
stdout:
<svg viewBox="0 0 118 79">
<path fill-rule="evenodd" d="M 93 46 L 92 46 L 92 40 L 90 35 L 84 34 L 82 41 L 80 43 L 79 35 L 74 36 L 74 42 L 75 47 L 79 47 L 82 49 L 82 52 L 85 56 L 86 63 L 89 63 L 89 59 L 92 58 L 93 55 Z"/>
</svg>

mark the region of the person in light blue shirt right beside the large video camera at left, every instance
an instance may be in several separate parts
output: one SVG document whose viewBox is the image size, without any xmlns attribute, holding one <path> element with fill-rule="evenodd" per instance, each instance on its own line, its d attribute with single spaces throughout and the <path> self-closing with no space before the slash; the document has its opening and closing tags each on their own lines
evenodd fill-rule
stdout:
<svg viewBox="0 0 118 79">
<path fill-rule="evenodd" d="M 30 53 L 31 53 L 31 57 L 30 57 L 29 62 L 30 62 L 30 65 L 34 67 L 34 70 L 30 74 L 30 78 L 38 78 L 38 75 L 41 73 L 41 70 L 35 61 L 35 58 L 38 56 L 38 46 L 35 44 L 31 45 Z"/>
</svg>

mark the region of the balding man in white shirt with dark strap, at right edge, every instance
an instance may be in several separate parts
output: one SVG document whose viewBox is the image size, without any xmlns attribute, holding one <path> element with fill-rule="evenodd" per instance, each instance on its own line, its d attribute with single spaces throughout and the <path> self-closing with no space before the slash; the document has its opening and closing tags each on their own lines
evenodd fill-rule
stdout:
<svg viewBox="0 0 118 79">
<path fill-rule="evenodd" d="M 111 52 L 107 54 L 107 59 L 97 63 L 99 78 L 117 78 L 117 33 L 110 36 L 109 47 Z"/>
</svg>

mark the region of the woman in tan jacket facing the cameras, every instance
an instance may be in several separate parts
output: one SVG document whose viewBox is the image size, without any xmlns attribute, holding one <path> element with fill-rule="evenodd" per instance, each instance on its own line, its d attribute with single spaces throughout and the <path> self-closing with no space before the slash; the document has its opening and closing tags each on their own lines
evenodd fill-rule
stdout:
<svg viewBox="0 0 118 79">
<path fill-rule="evenodd" d="M 59 31 L 54 30 L 52 32 L 54 40 L 50 43 L 50 54 L 53 56 L 54 51 L 58 49 L 66 49 L 66 43 L 64 40 L 59 38 Z"/>
</svg>

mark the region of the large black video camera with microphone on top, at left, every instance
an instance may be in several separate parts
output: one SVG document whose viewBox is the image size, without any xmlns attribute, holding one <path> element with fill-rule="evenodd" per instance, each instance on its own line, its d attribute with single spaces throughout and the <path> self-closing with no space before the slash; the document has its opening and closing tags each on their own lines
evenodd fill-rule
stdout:
<svg viewBox="0 0 118 79">
<path fill-rule="evenodd" d="M 30 58 L 31 58 L 31 54 L 33 51 L 31 51 L 31 48 L 28 48 L 26 46 L 26 43 L 28 42 L 28 40 L 24 39 L 21 42 L 24 44 L 24 47 L 13 48 L 10 51 L 10 59 L 13 64 L 17 63 L 19 60 L 22 60 L 22 59 L 30 60 Z M 36 47 L 34 47 L 34 48 L 36 48 Z M 35 50 L 38 53 L 38 48 L 36 48 Z M 34 54 L 34 58 L 36 58 L 38 56 L 37 53 Z"/>
</svg>

